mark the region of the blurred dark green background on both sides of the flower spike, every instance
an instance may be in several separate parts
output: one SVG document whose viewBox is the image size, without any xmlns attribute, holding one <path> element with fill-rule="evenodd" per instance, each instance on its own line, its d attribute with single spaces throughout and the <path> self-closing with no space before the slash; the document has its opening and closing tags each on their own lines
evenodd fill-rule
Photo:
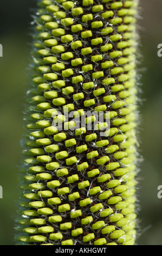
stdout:
<svg viewBox="0 0 162 256">
<path fill-rule="evenodd" d="M 21 161 L 20 141 L 23 134 L 23 102 L 28 83 L 27 66 L 30 51 L 31 11 L 35 0 L 1 1 L 0 44 L 0 120 L 1 154 L 0 185 L 0 245 L 12 245 L 14 236 L 15 200 L 17 196 L 17 172 Z M 140 95 L 139 143 L 141 170 L 139 180 L 138 245 L 162 245 L 162 199 L 157 197 L 157 187 L 162 185 L 162 58 L 157 56 L 157 46 L 162 43 L 161 0 L 141 0 L 139 17 L 142 74 Z"/>
</svg>

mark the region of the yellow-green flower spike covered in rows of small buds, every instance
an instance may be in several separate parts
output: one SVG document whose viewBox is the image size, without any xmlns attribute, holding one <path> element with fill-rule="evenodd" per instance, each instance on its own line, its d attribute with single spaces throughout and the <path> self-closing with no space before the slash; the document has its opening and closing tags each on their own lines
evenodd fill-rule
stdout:
<svg viewBox="0 0 162 256">
<path fill-rule="evenodd" d="M 137 6 L 38 1 L 18 245 L 135 243 Z"/>
</svg>

